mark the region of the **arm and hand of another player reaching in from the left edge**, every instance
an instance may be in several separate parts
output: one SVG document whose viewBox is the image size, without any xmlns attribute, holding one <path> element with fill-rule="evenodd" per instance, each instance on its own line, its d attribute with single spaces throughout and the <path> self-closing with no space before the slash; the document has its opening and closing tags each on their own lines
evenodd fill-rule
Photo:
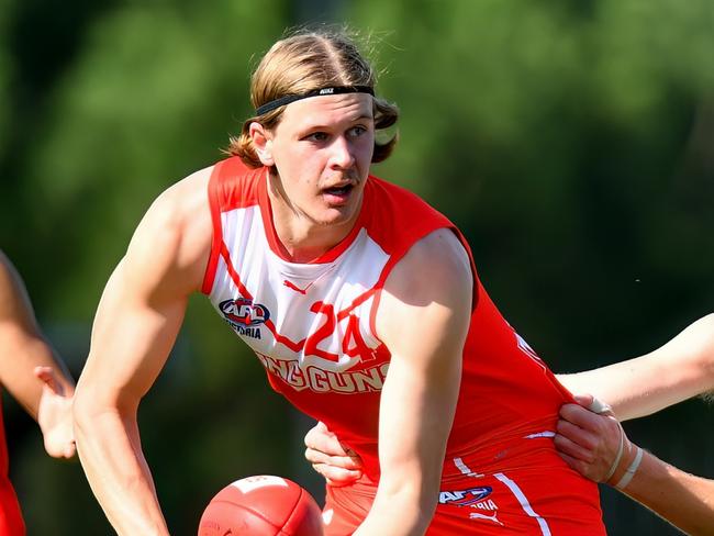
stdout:
<svg viewBox="0 0 714 536">
<path fill-rule="evenodd" d="M 37 421 L 47 454 L 74 455 L 70 406 L 75 382 L 45 340 L 24 283 L 2 252 L 0 383 Z"/>
</svg>

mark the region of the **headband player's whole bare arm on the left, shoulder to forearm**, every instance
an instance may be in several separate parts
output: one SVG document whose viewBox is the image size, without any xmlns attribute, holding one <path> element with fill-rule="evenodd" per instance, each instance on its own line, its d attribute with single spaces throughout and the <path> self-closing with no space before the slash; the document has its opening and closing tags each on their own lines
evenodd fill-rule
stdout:
<svg viewBox="0 0 714 536">
<path fill-rule="evenodd" d="M 207 178 L 200 172 L 167 190 L 143 219 L 104 289 L 77 386 L 79 457 L 120 535 L 168 534 L 136 414 L 201 284 L 211 241 Z"/>
</svg>

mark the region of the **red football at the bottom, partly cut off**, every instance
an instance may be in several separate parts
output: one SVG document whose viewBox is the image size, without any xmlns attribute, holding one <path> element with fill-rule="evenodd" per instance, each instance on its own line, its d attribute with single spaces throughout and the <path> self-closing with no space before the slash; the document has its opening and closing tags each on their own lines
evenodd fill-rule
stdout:
<svg viewBox="0 0 714 536">
<path fill-rule="evenodd" d="M 310 493 L 280 477 L 248 477 L 211 499 L 199 536 L 322 536 L 322 512 Z"/>
</svg>

